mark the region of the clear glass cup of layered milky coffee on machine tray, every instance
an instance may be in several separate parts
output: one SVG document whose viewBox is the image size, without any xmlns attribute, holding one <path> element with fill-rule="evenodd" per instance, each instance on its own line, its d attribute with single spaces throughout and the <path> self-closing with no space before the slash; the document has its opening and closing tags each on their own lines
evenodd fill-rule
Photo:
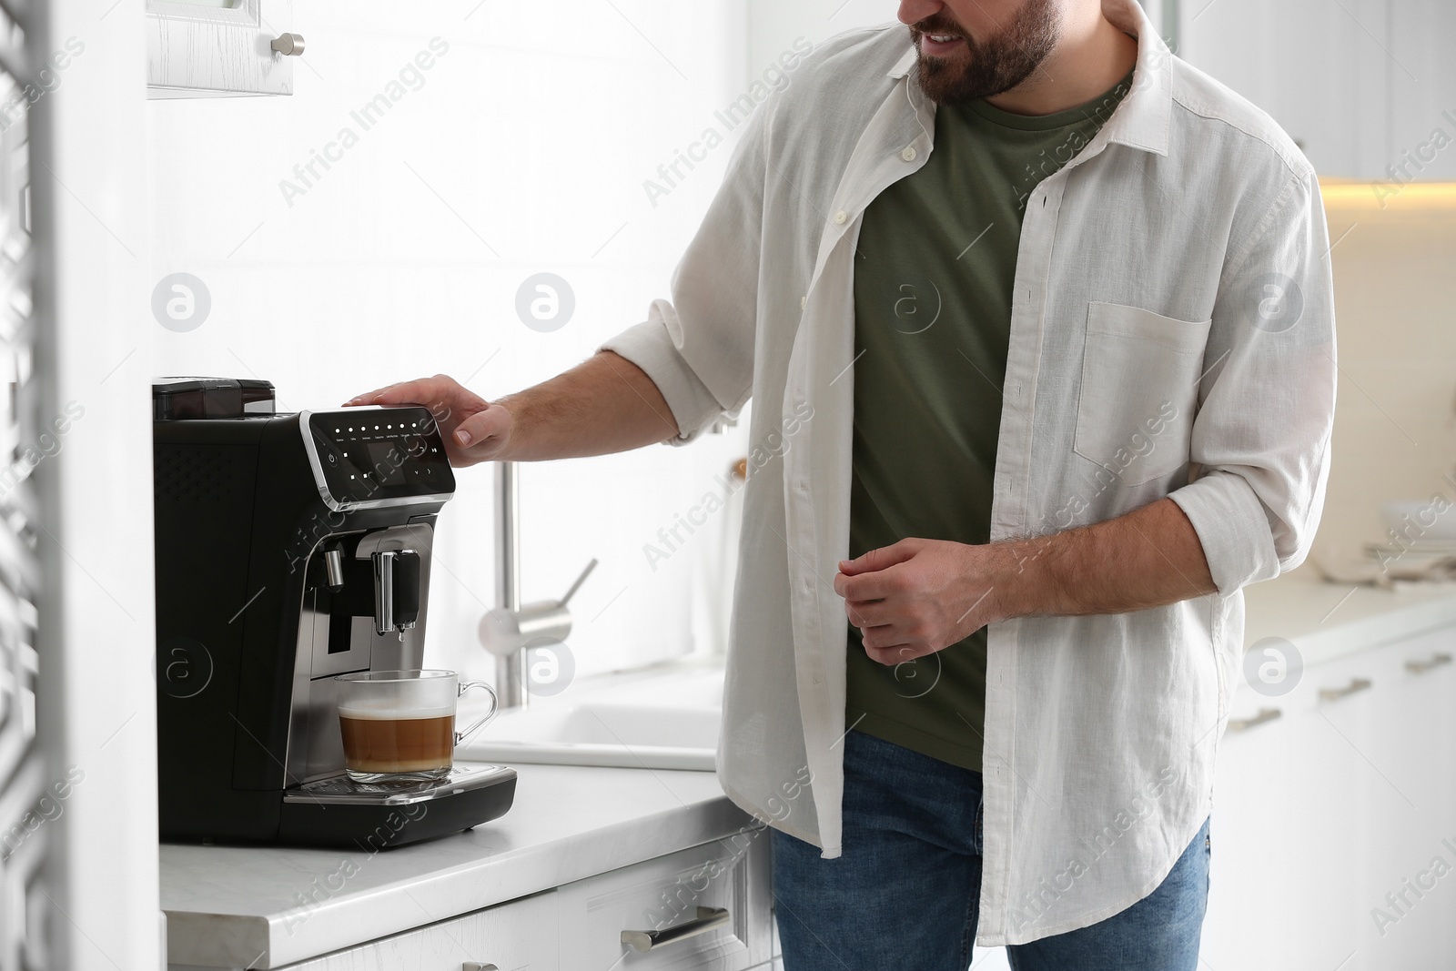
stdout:
<svg viewBox="0 0 1456 971">
<path fill-rule="evenodd" d="M 345 772 L 354 782 L 430 782 L 450 774 L 456 745 L 495 718 L 499 700 L 485 681 L 460 684 L 454 671 L 358 671 L 339 683 Z M 456 700 L 470 689 L 491 710 L 463 732 Z"/>
</svg>

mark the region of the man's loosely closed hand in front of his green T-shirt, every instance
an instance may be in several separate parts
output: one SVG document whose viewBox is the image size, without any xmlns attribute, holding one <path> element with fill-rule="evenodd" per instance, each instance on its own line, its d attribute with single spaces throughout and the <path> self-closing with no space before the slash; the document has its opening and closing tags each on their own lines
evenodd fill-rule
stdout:
<svg viewBox="0 0 1456 971">
<path fill-rule="evenodd" d="M 971 636 L 997 616 L 993 576 L 1006 546 L 900 540 L 839 563 L 834 592 L 860 629 L 865 652 L 901 664 Z M 1015 568 L 1015 562 L 1010 563 Z"/>
</svg>

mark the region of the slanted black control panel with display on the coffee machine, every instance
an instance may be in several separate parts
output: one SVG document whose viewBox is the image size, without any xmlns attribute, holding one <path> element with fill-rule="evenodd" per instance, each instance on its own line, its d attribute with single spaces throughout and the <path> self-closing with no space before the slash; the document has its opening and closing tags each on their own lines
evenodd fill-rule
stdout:
<svg viewBox="0 0 1456 971">
<path fill-rule="evenodd" d="M 320 483 L 339 504 L 454 492 L 440 429 L 425 408 L 309 415 Z"/>
</svg>

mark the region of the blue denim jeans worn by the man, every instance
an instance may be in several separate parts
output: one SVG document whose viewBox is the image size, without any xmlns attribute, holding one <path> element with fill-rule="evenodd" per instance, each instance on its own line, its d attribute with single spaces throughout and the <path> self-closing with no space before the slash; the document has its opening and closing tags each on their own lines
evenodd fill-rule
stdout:
<svg viewBox="0 0 1456 971">
<path fill-rule="evenodd" d="M 785 971 L 965 971 L 981 895 L 981 776 L 863 732 L 844 737 L 844 852 L 773 831 Z M 1168 878 L 1091 927 L 1006 949 L 1015 971 L 1194 971 L 1208 823 Z"/>
</svg>

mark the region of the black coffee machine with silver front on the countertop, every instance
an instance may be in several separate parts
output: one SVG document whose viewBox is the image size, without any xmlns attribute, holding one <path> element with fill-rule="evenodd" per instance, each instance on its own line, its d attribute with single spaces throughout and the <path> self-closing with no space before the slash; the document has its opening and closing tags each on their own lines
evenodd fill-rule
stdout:
<svg viewBox="0 0 1456 971">
<path fill-rule="evenodd" d="M 425 408 L 275 413 L 268 381 L 153 386 L 162 837 L 381 849 L 511 806 L 515 772 L 344 774 L 338 674 L 419 668 L 435 517 Z"/>
</svg>

